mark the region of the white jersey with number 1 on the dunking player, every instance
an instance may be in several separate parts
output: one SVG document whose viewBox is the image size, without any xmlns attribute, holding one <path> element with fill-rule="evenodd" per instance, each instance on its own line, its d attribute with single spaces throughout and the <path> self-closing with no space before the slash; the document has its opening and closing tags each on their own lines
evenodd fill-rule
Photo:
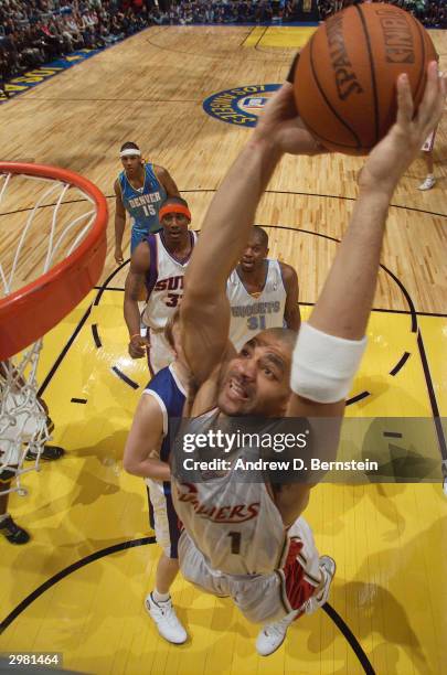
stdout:
<svg viewBox="0 0 447 675">
<path fill-rule="evenodd" d="M 189 421 L 188 431 L 211 427 L 219 410 Z M 211 449 L 204 457 L 211 459 Z M 231 458 L 232 468 L 225 474 L 210 472 L 198 480 L 198 473 L 185 471 L 185 454 L 174 446 L 172 453 L 172 501 L 189 537 L 211 568 L 227 575 L 259 575 L 280 569 L 288 553 L 288 537 L 281 515 L 259 476 L 247 482 L 251 471 L 237 468 L 242 460 L 259 459 L 258 448 L 242 448 Z M 222 454 L 220 454 L 222 457 Z M 188 454 L 199 460 L 196 451 Z M 225 454 L 225 459 L 228 456 Z M 181 478 L 179 478 L 179 471 Z M 183 482 L 190 473 L 194 483 Z"/>
</svg>

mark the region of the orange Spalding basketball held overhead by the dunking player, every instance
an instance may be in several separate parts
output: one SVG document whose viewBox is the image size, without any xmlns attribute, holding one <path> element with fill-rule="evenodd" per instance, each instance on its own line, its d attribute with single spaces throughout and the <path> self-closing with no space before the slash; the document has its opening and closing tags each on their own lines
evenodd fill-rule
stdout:
<svg viewBox="0 0 447 675">
<path fill-rule="evenodd" d="M 415 109 L 436 51 L 427 31 L 392 4 L 358 4 L 326 21 L 295 71 L 299 115 L 329 150 L 366 154 L 396 118 L 396 78 L 406 73 Z"/>
</svg>

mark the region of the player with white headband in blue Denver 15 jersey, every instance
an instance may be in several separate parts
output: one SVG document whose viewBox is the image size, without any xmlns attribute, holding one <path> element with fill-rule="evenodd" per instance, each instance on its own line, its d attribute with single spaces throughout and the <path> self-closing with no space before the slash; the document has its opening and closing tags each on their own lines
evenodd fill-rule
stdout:
<svg viewBox="0 0 447 675">
<path fill-rule="evenodd" d="M 151 232 L 160 229 L 158 212 L 167 196 L 179 196 L 179 190 L 163 167 L 145 162 L 137 143 L 121 146 L 123 171 L 114 184 L 115 192 L 115 260 L 124 261 L 123 235 L 126 212 L 130 215 L 130 253 Z"/>
</svg>

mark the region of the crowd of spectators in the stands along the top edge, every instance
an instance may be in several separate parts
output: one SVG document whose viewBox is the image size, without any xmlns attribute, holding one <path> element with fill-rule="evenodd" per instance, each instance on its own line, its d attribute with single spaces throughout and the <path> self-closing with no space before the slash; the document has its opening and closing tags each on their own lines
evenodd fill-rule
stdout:
<svg viewBox="0 0 447 675">
<path fill-rule="evenodd" d="M 315 8 L 326 19 L 360 1 L 318 0 Z M 427 26 L 447 28 L 446 0 L 389 1 Z M 105 47 L 149 25 L 290 22 L 299 12 L 302 0 L 0 0 L 0 79 L 79 49 Z"/>
</svg>

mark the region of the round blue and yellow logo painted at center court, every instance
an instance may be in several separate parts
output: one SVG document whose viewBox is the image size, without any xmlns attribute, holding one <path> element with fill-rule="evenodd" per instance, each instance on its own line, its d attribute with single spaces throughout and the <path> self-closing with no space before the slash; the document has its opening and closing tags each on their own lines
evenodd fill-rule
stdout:
<svg viewBox="0 0 447 675">
<path fill-rule="evenodd" d="M 225 89 L 209 96 L 203 109 L 228 125 L 255 127 L 260 110 L 279 87 L 279 84 L 267 84 Z"/>
</svg>

